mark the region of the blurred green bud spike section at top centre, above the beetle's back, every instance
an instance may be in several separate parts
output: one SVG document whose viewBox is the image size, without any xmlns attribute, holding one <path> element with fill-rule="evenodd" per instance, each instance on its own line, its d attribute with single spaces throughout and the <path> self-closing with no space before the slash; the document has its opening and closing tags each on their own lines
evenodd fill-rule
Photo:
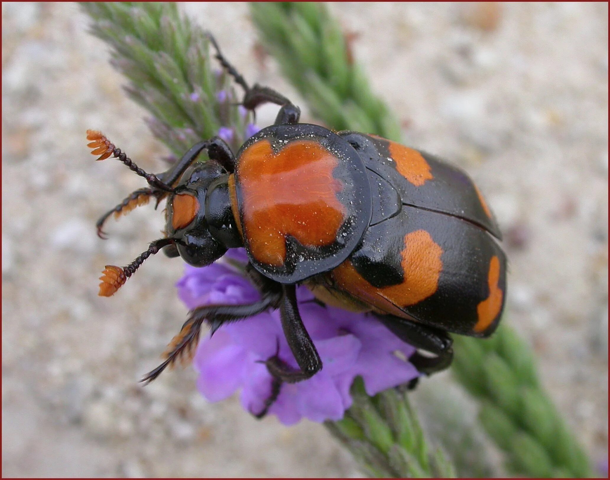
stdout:
<svg viewBox="0 0 610 480">
<path fill-rule="evenodd" d="M 325 4 L 253 2 L 250 10 L 265 48 L 326 125 L 400 140 L 400 126 L 371 92 L 364 70 Z"/>
</svg>

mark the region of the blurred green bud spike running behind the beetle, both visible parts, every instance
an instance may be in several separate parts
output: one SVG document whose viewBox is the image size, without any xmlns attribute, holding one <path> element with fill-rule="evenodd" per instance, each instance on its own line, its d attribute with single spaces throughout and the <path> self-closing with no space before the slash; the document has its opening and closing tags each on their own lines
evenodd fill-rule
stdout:
<svg viewBox="0 0 610 480">
<path fill-rule="evenodd" d="M 339 24 L 318 3 L 251 2 L 254 24 L 284 75 L 329 128 L 400 139 L 400 126 L 348 54 Z M 456 379 L 480 403 L 479 419 L 525 476 L 590 477 L 590 462 L 540 386 L 527 344 L 506 325 L 491 340 L 456 337 Z"/>
</svg>

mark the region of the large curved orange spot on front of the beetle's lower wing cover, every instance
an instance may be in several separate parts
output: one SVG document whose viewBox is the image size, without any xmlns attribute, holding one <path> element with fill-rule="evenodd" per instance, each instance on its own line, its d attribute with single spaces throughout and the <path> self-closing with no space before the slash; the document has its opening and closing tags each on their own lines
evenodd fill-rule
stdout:
<svg viewBox="0 0 610 480">
<path fill-rule="evenodd" d="M 425 230 L 404 236 L 401 252 L 404 280 L 398 285 L 376 288 L 359 274 L 349 260 L 332 272 L 339 286 L 379 310 L 403 315 L 399 307 L 415 305 L 434 294 L 439 286 L 443 249 Z"/>
</svg>

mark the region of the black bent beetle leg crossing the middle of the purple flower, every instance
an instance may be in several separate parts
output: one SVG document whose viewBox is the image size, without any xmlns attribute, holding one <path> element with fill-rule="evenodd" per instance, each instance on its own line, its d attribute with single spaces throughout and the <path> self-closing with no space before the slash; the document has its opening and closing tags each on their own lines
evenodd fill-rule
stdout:
<svg viewBox="0 0 610 480">
<path fill-rule="evenodd" d="M 322 369 L 320 355 L 315 349 L 314 342 L 303 325 L 296 303 L 296 288 L 294 285 L 282 285 L 282 300 L 280 303 L 280 315 L 284 335 L 295 356 L 298 370 L 293 369 L 281 360 L 278 355 L 269 358 L 265 364 L 269 373 L 274 377 L 293 384 L 307 380 Z"/>
</svg>

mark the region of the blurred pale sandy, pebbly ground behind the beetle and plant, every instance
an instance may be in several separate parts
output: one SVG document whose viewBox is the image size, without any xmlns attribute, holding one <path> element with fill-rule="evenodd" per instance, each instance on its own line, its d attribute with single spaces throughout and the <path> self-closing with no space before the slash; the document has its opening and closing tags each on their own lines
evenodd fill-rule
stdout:
<svg viewBox="0 0 610 480">
<path fill-rule="evenodd" d="M 182 7 L 250 82 L 303 107 L 248 5 Z M 329 8 L 408 144 L 461 165 L 486 194 L 511 262 L 504 321 L 533 345 L 592 460 L 607 461 L 608 4 Z M 103 266 L 135 258 L 163 217 L 137 209 L 96 237 L 100 214 L 143 181 L 95 162 L 85 130 L 149 171 L 167 150 L 87 25 L 76 4 L 2 4 L 3 476 L 359 476 L 321 426 L 256 421 L 236 398 L 209 404 L 192 368 L 137 383 L 185 319 L 182 264 L 157 255 L 120 294 L 97 296 Z M 455 391 L 472 417 L 448 373 L 422 384 L 416 404 Z"/>
</svg>

